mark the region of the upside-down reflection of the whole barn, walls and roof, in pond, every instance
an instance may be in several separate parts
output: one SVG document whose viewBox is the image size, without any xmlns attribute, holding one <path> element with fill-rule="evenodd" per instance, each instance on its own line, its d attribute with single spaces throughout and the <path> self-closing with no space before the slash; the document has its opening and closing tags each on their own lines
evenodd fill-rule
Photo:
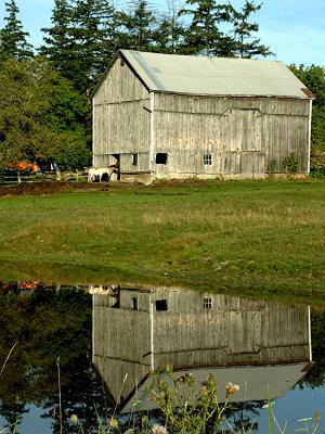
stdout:
<svg viewBox="0 0 325 434">
<path fill-rule="evenodd" d="M 93 363 L 121 412 L 135 399 L 139 410 L 156 408 L 150 372 L 166 365 L 198 381 L 212 373 L 220 400 L 236 383 L 233 400 L 247 401 L 284 395 L 311 360 L 308 306 L 170 288 L 93 295 Z"/>
</svg>

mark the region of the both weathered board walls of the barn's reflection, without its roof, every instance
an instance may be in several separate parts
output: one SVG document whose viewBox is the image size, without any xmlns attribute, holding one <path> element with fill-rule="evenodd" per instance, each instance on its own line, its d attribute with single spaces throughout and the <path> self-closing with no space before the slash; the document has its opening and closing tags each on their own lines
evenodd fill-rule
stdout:
<svg viewBox="0 0 325 434">
<path fill-rule="evenodd" d="M 157 310 L 157 301 L 168 310 Z M 166 363 L 193 370 L 311 360 L 306 306 L 164 288 L 121 290 L 119 307 L 110 306 L 109 296 L 94 295 L 93 362 L 116 400 Z"/>
</svg>

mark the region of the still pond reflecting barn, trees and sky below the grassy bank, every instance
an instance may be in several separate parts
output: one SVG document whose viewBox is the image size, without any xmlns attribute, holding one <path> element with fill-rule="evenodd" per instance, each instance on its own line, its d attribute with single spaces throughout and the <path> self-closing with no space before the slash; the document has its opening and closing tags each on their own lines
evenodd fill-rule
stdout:
<svg viewBox="0 0 325 434">
<path fill-rule="evenodd" d="M 325 312 L 179 288 L 0 282 L 1 434 L 98 432 L 115 409 L 120 426 L 162 421 L 151 372 L 171 385 L 192 375 L 192 405 L 209 375 L 220 403 L 238 385 L 224 432 L 268 433 L 272 408 L 287 433 L 323 413 L 322 433 Z"/>
</svg>

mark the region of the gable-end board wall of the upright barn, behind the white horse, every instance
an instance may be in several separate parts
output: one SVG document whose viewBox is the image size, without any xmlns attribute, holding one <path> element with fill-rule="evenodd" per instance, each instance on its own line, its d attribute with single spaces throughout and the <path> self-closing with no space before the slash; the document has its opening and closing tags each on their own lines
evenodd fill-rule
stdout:
<svg viewBox="0 0 325 434">
<path fill-rule="evenodd" d="M 117 59 L 93 98 L 94 166 L 115 163 L 121 173 L 150 169 L 150 93 L 129 66 Z M 133 154 L 138 155 L 134 165 Z"/>
</svg>

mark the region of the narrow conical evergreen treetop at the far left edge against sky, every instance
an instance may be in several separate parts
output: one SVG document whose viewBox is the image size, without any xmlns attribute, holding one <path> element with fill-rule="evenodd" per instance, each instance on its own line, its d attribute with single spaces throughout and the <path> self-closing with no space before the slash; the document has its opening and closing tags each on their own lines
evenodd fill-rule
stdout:
<svg viewBox="0 0 325 434">
<path fill-rule="evenodd" d="M 24 31 L 23 24 L 17 17 L 20 10 L 15 1 L 9 0 L 5 8 L 8 16 L 4 17 L 5 25 L 0 30 L 0 60 L 32 58 L 32 47 L 26 40 L 29 34 Z"/>
</svg>

